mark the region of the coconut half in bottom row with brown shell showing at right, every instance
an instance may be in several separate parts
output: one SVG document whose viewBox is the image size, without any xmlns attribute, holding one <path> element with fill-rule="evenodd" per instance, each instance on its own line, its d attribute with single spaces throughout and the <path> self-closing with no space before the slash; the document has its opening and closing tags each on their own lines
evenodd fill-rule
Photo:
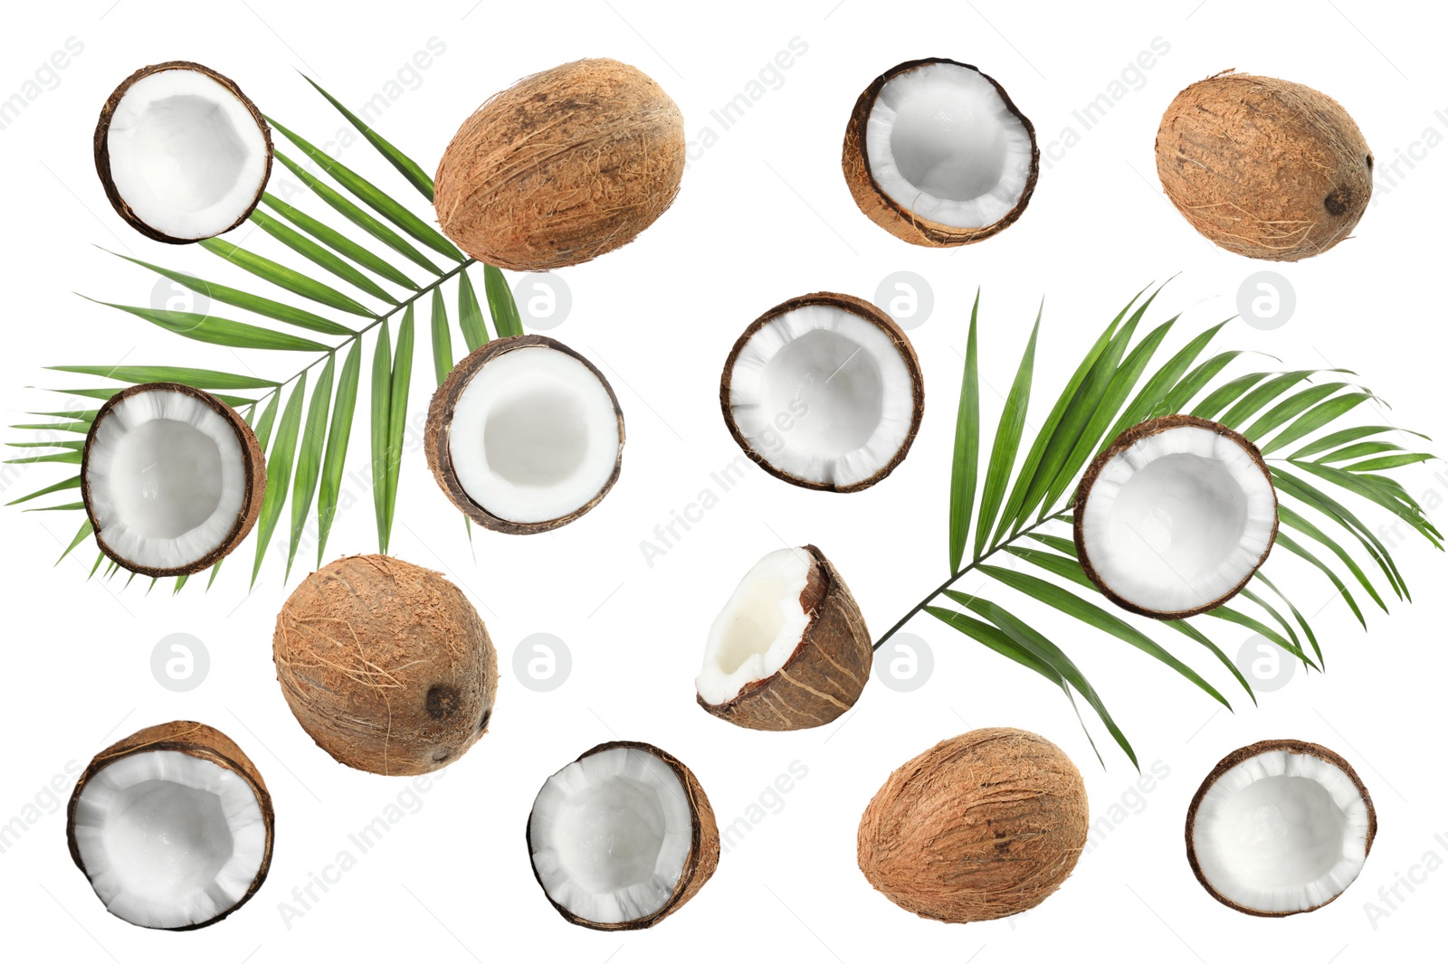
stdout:
<svg viewBox="0 0 1448 964">
<path fill-rule="evenodd" d="M 714 874 L 720 832 L 686 766 L 647 743 L 594 747 L 547 779 L 529 815 L 533 876 L 563 919 L 652 928 Z"/>
</svg>

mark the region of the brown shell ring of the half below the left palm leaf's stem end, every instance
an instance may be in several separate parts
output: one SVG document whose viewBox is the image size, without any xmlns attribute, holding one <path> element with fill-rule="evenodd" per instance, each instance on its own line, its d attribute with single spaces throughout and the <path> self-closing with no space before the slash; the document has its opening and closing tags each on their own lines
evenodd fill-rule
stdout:
<svg viewBox="0 0 1448 964">
<path fill-rule="evenodd" d="M 604 391 L 608 392 L 608 398 L 614 404 L 614 414 L 618 417 L 618 456 L 614 459 L 614 472 L 608 476 L 604 488 L 601 488 L 594 498 L 588 499 L 584 505 L 566 515 L 546 520 L 543 523 L 514 523 L 511 520 L 500 518 L 482 505 L 473 502 L 472 496 L 468 495 L 468 491 L 463 489 L 452 460 L 452 418 L 453 410 L 458 407 L 458 399 L 462 398 L 468 384 L 472 382 L 473 376 L 482 371 L 484 365 L 507 352 L 530 346 L 544 346 L 553 349 L 555 352 L 562 352 L 563 355 L 581 362 L 584 368 L 594 373 L 594 378 L 597 378 L 604 386 Z M 546 533 L 549 530 L 559 528 L 560 525 L 568 525 L 578 517 L 584 515 L 591 508 L 602 502 L 604 496 L 608 495 L 608 491 L 614 488 L 624 460 L 624 411 L 618 407 L 618 395 L 614 394 L 613 385 L 610 385 L 608 379 L 604 378 L 604 373 L 598 371 L 598 366 L 562 342 L 542 334 L 515 334 L 513 337 L 488 342 L 487 344 L 479 346 L 478 350 L 472 352 L 468 358 L 453 365 L 453 369 L 447 372 L 447 378 L 443 379 L 443 384 L 437 386 L 436 392 L 433 392 L 433 401 L 427 408 L 427 426 L 423 428 L 423 450 L 427 453 L 427 468 L 432 469 L 433 478 L 437 481 L 437 486 L 443 491 L 443 495 L 446 495 L 449 501 L 452 501 L 452 504 L 473 523 L 482 525 L 484 528 L 491 528 L 495 533 L 508 533 L 511 536 Z"/>
</svg>

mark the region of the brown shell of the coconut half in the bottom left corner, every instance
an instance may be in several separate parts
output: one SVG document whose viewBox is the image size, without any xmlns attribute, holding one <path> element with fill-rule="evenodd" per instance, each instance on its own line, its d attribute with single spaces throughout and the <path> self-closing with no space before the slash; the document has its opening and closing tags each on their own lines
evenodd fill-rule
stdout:
<svg viewBox="0 0 1448 964">
<path fill-rule="evenodd" d="M 125 740 L 119 740 L 97 753 L 96 758 L 87 764 L 85 770 L 75 782 L 75 789 L 71 792 L 71 800 L 65 808 L 65 841 L 71 851 L 71 860 L 75 861 L 75 866 L 81 868 L 81 873 L 84 873 L 88 880 L 90 871 L 85 870 L 85 861 L 81 860 L 80 845 L 75 842 L 75 808 L 80 805 L 81 792 L 97 773 L 109 767 L 111 763 L 136 753 L 159 753 L 162 750 L 174 750 L 198 760 L 206 760 L 207 763 L 214 763 L 216 766 L 230 770 L 236 776 L 246 780 L 246 783 L 252 787 L 252 792 L 256 793 L 256 803 L 262 811 L 262 822 L 266 825 L 266 847 L 262 853 L 261 868 L 256 871 L 256 877 L 252 880 L 251 887 L 246 889 L 246 893 L 240 900 L 209 921 L 188 923 L 181 928 L 158 928 L 168 931 L 195 931 L 197 928 L 210 926 L 217 921 L 224 919 L 243 903 L 251 900 L 252 896 L 261 889 L 262 883 L 266 880 L 266 873 L 271 870 L 272 841 L 277 835 L 277 813 L 272 809 L 271 793 L 266 792 L 266 783 L 262 782 L 262 774 L 256 770 L 256 766 L 251 761 L 251 758 L 242 753 L 242 748 L 237 747 L 224 732 L 191 719 L 177 719 L 174 722 L 156 724 L 155 727 L 138 730 Z"/>
</svg>

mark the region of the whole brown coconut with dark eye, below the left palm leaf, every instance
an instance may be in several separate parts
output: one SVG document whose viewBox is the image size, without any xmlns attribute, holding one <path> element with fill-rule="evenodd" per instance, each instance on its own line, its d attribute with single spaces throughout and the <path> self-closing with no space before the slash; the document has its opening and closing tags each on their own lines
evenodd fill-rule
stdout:
<svg viewBox="0 0 1448 964">
<path fill-rule="evenodd" d="M 348 556 L 311 573 L 277 617 L 272 659 L 301 728 L 339 763 L 410 776 L 488 730 L 498 656 L 442 573 Z"/>
</svg>

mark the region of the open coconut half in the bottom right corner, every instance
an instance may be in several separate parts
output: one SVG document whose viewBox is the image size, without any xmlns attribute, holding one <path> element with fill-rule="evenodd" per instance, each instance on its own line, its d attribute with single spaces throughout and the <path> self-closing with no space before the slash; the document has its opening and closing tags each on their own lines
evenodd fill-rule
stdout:
<svg viewBox="0 0 1448 964">
<path fill-rule="evenodd" d="M 1284 918 L 1332 903 L 1363 871 L 1377 811 L 1347 760 L 1302 740 L 1228 754 L 1186 813 L 1186 857 L 1234 910 Z"/>
</svg>

